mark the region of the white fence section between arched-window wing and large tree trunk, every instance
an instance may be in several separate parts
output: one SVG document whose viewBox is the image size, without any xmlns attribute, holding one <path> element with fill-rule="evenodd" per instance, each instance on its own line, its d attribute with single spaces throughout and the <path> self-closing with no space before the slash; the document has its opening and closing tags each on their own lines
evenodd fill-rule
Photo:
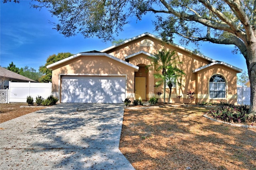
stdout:
<svg viewBox="0 0 256 170">
<path fill-rule="evenodd" d="M 237 104 L 250 105 L 250 87 L 237 87 Z"/>
</svg>

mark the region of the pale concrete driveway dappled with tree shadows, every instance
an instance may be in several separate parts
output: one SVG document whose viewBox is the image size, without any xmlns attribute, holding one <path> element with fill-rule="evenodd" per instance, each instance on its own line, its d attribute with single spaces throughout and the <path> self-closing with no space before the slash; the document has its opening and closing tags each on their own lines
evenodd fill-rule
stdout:
<svg viewBox="0 0 256 170">
<path fill-rule="evenodd" d="M 134 169 L 118 149 L 124 105 L 60 103 L 0 124 L 0 169 Z"/>
</svg>

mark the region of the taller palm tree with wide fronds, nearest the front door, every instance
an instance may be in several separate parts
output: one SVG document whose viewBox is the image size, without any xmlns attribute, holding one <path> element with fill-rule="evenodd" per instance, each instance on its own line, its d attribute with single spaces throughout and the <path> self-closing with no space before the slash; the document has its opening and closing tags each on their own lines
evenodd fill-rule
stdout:
<svg viewBox="0 0 256 170">
<path fill-rule="evenodd" d="M 161 78 L 164 81 L 164 103 L 165 103 L 165 90 L 166 90 L 166 73 L 167 69 L 170 65 L 172 65 L 172 61 L 176 56 L 176 51 L 158 51 L 158 53 L 154 53 L 154 56 L 150 56 L 149 58 L 152 59 L 152 64 L 148 65 L 148 67 L 154 66 L 155 71 L 162 71 L 162 75 L 159 73 L 155 73 L 154 76 L 156 78 Z"/>
</svg>

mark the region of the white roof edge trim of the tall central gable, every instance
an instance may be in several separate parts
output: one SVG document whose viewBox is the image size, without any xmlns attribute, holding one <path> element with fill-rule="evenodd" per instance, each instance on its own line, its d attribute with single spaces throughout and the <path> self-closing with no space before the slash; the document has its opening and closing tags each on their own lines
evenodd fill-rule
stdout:
<svg viewBox="0 0 256 170">
<path fill-rule="evenodd" d="M 116 45 L 112 45 L 111 47 L 102 49 L 100 52 L 106 52 L 106 51 L 108 51 L 108 50 L 110 50 L 110 49 L 114 49 L 114 48 L 119 47 L 119 46 L 121 46 L 121 45 L 123 45 L 123 44 L 125 44 L 125 43 L 131 42 L 131 41 L 134 41 L 134 40 L 137 40 L 137 39 L 142 38 L 142 37 L 144 37 L 144 36 L 149 36 L 149 37 L 155 38 L 155 39 L 157 39 L 157 40 L 159 40 L 159 41 L 162 41 L 162 38 L 160 38 L 160 37 L 158 37 L 158 36 L 155 36 L 155 35 L 153 35 L 153 34 L 150 34 L 150 33 L 146 32 L 146 33 L 140 34 L 139 36 L 136 36 L 136 37 L 134 37 L 134 38 L 130 38 L 129 40 L 126 40 L 126 41 L 124 41 L 124 42 L 121 42 L 121 43 L 118 43 L 118 44 L 116 44 Z M 190 50 L 190 49 L 187 49 L 187 48 L 184 48 L 184 47 L 182 47 L 182 46 L 180 46 L 180 45 L 178 45 L 178 44 L 175 44 L 175 43 L 169 43 L 169 44 L 172 45 L 172 46 L 175 46 L 175 47 L 177 47 L 177 48 L 179 48 L 179 49 L 182 49 L 182 50 L 184 50 L 184 51 L 187 51 L 187 52 L 189 52 L 189 53 L 193 53 L 194 55 L 197 55 L 198 57 L 204 58 L 204 59 L 206 59 L 206 60 L 208 60 L 208 61 L 212 61 L 212 62 L 215 62 L 215 61 L 216 61 L 216 60 L 214 60 L 214 59 L 211 59 L 211 58 L 209 58 L 209 57 L 206 57 L 205 55 L 202 55 L 202 54 L 199 54 L 199 53 L 195 53 L 194 51 L 192 51 L 192 50 Z"/>
</svg>

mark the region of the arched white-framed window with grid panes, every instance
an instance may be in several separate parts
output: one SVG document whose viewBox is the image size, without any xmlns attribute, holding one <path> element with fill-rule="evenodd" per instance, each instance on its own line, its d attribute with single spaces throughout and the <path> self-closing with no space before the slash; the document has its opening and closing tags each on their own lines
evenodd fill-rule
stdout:
<svg viewBox="0 0 256 170">
<path fill-rule="evenodd" d="M 210 78 L 210 98 L 226 98 L 226 81 L 222 75 Z"/>
</svg>

